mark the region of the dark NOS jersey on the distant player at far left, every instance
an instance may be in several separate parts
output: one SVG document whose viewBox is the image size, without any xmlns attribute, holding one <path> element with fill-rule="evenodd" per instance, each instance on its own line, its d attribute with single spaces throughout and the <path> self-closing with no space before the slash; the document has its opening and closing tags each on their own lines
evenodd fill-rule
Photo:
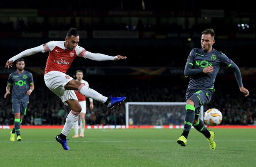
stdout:
<svg viewBox="0 0 256 167">
<path fill-rule="evenodd" d="M 12 85 L 12 101 L 27 102 L 29 99 L 27 91 L 32 83 L 34 83 L 33 76 L 28 71 L 24 70 L 22 74 L 18 74 L 17 71 L 11 73 L 7 84 Z"/>
</svg>

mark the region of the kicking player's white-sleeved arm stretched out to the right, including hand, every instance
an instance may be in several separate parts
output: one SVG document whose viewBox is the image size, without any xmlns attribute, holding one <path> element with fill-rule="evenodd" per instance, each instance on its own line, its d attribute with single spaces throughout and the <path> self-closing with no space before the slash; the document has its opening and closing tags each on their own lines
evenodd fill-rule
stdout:
<svg viewBox="0 0 256 167">
<path fill-rule="evenodd" d="M 91 60 L 96 60 L 96 61 L 106 61 L 106 60 L 120 60 L 120 59 L 126 59 L 126 56 L 108 56 L 106 54 L 101 54 L 101 53 L 92 53 L 92 52 L 85 52 L 85 55 L 83 56 L 84 58 L 91 59 Z"/>
</svg>

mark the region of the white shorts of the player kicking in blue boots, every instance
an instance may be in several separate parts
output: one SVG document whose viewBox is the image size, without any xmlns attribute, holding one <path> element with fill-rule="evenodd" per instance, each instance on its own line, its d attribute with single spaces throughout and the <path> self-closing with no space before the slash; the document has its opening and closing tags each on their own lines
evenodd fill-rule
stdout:
<svg viewBox="0 0 256 167">
<path fill-rule="evenodd" d="M 45 74 L 44 79 L 46 86 L 59 96 L 63 103 L 69 99 L 77 100 L 75 91 L 65 90 L 64 88 L 64 86 L 73 79 L 71 76 L 60 71 L 50 71 Z M 65 105 L 67 105 L 67 103 L 65 103 Z"/>
</svg>

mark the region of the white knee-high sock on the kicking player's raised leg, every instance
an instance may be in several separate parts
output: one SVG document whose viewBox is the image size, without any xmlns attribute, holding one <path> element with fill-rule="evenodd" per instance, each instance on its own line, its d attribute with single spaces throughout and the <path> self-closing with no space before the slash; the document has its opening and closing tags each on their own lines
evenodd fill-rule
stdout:
<svg viewBox="0 0 256 167">
<path fill-rule="evenodd" d="M 88 88 L 87 86 L 85 86 L 84 84 L 82 84 L 78 90 L 79 93 L 81 93 L 82 95 L 86 96 L 87 98 L 93 98 L 97 101 L 100 101 L 102 103 L 105 103 L 107 101 L 107 97 L 102 96 L 102 94 L 100 94 L 97 91 L 94 91 L 91 88 Z"/>
</svg>

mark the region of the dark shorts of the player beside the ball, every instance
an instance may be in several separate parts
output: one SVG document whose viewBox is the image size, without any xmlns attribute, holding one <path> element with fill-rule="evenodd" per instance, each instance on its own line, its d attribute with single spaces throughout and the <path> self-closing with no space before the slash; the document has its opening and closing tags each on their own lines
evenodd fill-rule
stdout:
<svg viewBox="0 0 256 167">
<path fill-rule="evenodd" d="M 195 114 L 199 116 L 201 106 L 209 103 L 211 100 L 213 91 L 211 89 L 187 89 L 186 90 L 186 101 L 191 100 L 195 105 Z"/>
</svg>

